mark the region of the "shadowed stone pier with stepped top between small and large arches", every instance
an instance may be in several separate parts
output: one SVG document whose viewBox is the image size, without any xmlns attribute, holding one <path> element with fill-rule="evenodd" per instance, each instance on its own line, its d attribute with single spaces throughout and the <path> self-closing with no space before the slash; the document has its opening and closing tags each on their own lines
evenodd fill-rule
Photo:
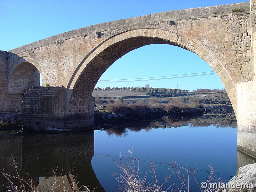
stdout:
<svg viewBox="0 0 256 192">
<path fill-rule="evenodd" d="M 44 131 L 47 128 L 84 128 L 94 124 L 94 98 L 81 106 L 65 109 L 63 86 L 34 86 L 22 96 L 22 128 Z"/>
</svg>

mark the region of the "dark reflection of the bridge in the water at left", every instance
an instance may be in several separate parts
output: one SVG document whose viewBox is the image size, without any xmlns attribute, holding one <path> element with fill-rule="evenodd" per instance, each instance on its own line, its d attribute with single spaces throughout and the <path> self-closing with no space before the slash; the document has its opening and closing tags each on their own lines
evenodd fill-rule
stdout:
<svg viewBox="0 0 256 192">
<path fill-rule="evenodd" d="M 15 173 L 11 165 L 16 159 L 18 172 L 28 173 L 36 182 L 39 191 L 50 191 L 53 183 L 52 169 L 57 168 L 57 178 L 66 175 L 63 180 L 70 187 L 74 176 L 77 188 L 89 186 L 94 191 L 103 192 L 91 165 L 94 155 L 94 132 L 63 135 L 23 135 L 2 136 L 0 138 L 0 169 Z M 4 178 L 0 178 L 4 181 Z M 1 183 L 2 184 L 2 183 Z"/>
</svg>

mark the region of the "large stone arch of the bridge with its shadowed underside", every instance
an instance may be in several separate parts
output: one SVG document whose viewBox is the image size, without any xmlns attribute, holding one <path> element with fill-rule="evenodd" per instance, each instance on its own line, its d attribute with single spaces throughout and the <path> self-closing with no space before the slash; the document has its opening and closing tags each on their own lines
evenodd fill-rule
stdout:
<svg viewBox="0 0 256 192">
<path fill-rule="evenodd" d="M 66 108 L 81 105 L 81 99 L 89 98 L 104 71 L 126 53 L 148 44 L 171 44 L 194 52 L 206 61 L 220 77 L 235 113 L 237 112 L 236 80 L 227 64 L 208 46 L 196 38 L 176 30 L 156 28 L 128 30 L 105 39 L 78 65 L 71 77 L 65 96 Z"/>
</svg>

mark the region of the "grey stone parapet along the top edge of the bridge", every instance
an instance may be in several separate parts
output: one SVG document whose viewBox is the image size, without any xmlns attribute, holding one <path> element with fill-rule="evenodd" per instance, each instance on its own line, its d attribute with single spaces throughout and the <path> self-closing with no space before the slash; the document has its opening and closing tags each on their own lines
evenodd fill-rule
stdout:
<svg viewBox="0 0 256 192">
<path fill-rule="evenodd" d="M 237 8 L 240 12 L 232 12 L 233 8 Z M 240 15 L 240 14 L 250 14 L 250 2 L 236 3 L 236 4 L 225 4 L 225 5 L 216 5 L 210 7 L 199 7 L 199 8 L 190 8 L 182 10 L 173 10 L 166 12 L 153 13 L 149 15 L 143 15 L 138 17 L 132 17 L 121 20 L 108 21 L 104 23 L 99 23 L 91 25 L 84 28 L 75 29 L 65 33 L 61 33 L 55 36 L 51 36 L 27 45 L 11 49 L 8 52 L 18 54 L 20 52 L 32 50 L 44 45 L 49 45 L 52 43 L 59 43 L 61 41 L 67 40 L 70 38 L 85 36 L 90 33 L 95 33 L 96 31 L 107 31 L 119 29 L 120 26 L 123 28 L 132 27 L 139 28 L 139 25 L 145 24 L 154 24 L 157 22 L 165 21 L 175 21 L 180 19 L 199 19 L 206 17 L 216 17 L 216 16 L 228 16 L 228 15 Z M 111 31 L 113 33 L 114 31 Z M 97 35 L 95 34 L 95 37 Z"/>
</svg>

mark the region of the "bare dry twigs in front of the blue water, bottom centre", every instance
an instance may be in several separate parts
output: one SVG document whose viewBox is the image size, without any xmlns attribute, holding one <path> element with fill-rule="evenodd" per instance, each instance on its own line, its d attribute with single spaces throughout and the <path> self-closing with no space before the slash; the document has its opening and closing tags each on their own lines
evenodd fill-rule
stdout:
<svg viewBox="0 0 256 192">
<path fill-rule="evenodd" d="M 128 150 L 129 151 L 129 150 Z M 120 155 L 120 162 L 114 163 L 121 171 L 121 173 L 113 173 L 113 176 L 119 183 L 119 189 L 122 192 L 167 192 L 170 189 L 170 192 L 190 192 L 190 179 L 193 179 L 198 186 L 198 191 L 201 192 L 213 192 L 216 191 L 214 188 L 210 188 L 210 183 L 217 183 L 220 179 L 214 180 L 214 170 L 212 166 L 209 166 L 210 172 L 208 175 L 206 188 L 201 188 L 200 184 L 196 178 L 197 168 L 196 165 L 194 168 L 190 167 L 181 167 L 176 162 L 172 162 L 172 168 L 169 168 L 172 175 L 165 177 L 163 183 L 159 183 L 156 175 L 156 164 L 154 162 L 150 162 L 149 172 L 152 174 L 153 179 L 152 182 L 147 182 L 147 174 L 144 177 L 140 177 L 140 163 L 139 160 L 135 162 L 132 156 L 132 150 L 129 151 L 131 155 L 131 162 L 126 163 L 126 157 L 122 160 Z M 172 184 L 166 190 L 163 189 L 164 184 L 170 179 L 174 178 L 177 180 L 176 183 Z"/>
</svg>

